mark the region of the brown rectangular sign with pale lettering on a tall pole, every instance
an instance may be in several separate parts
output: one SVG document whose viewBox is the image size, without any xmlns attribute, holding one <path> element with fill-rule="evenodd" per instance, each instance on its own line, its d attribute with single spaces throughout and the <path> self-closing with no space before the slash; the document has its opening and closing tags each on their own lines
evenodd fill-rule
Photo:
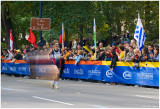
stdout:
<svg viewBox="0 0 160 109">
<path fill-rule="evenodd" d="M 32 18 L 31 29 L 32 30 L 50 30 L 50 18 Z"/>
</svg>

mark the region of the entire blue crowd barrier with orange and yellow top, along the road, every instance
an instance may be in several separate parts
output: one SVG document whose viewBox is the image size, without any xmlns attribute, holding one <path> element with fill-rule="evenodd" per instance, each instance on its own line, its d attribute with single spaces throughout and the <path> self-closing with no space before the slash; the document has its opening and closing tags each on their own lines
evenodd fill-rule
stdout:
<svg viewBox="0 0 160 109">
<path fill-rule="evenodd" d="M 159 62 L 140 62 L 139 68 L 133 67 L 133 62 L 116 63 L 116 67 L 110 71 L 110 61 L 65 61 L 62 77 L 79 78 L 87 80 L 99 80 L 105 82 L 117 82 L 123 84 L 136 84 L 146 86 L 159 86 Z M 50 75 L 52 64 L 34 63 L 36 76 Z M 33 64 L 33 65 L 34 65 Z M 30 67 L 24 60 L 1 62 L 1 72 L 7 74 L 31 75 Z"/>
</svg>

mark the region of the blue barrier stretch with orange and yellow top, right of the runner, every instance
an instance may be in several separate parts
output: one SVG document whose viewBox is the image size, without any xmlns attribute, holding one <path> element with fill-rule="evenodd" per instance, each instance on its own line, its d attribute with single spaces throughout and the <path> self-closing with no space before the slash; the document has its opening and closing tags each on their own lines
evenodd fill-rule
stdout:
<svg viewBox="0 0 160 109">
<path fill-rule="evenodd" d="M 110 61 L 65 61 L 63 77 L 159 86 L 159 62 L 141 62 L 137 69 L 133 62 L 117 62 L 110 71 Z"/>
</svg>

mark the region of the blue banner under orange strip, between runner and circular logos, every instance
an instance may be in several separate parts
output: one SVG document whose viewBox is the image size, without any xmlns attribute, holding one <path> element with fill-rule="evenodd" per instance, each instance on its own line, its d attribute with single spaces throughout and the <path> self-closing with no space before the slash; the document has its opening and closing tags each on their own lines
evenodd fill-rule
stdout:
<svg viewBox="0 0 160 109">
<path fill-rule="evenodd" d="M 101 80 L 101 67 L 99 65 L 65 64 L 63 77 Z"/>
</svg>

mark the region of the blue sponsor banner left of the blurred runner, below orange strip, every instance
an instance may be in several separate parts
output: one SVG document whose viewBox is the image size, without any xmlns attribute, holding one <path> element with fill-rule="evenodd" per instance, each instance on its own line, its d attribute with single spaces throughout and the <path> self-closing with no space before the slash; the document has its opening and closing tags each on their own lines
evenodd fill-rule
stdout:
<svg viewBox="0 0 160 109">
<path fill-rule="evenodd" d="M 1 72 L 7 74 L 30 75 L 30 65 L 27 63 L 1 63 Z"/>
</svg>

